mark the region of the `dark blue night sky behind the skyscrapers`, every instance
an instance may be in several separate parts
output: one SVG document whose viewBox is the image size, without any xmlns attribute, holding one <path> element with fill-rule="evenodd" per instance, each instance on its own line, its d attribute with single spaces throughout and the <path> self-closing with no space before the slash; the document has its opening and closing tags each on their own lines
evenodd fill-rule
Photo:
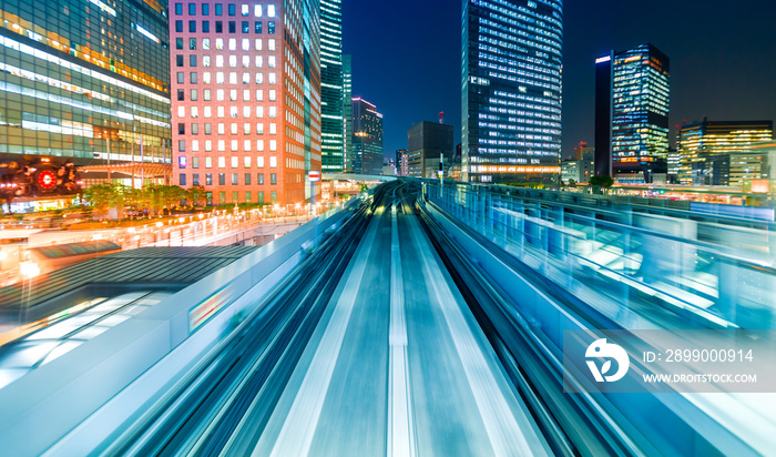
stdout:
<svg viewBox="0 0 776 457">
<path fill-rule="evenodd" d="M 593 143 L 595 58 L 645 42 L 671 59 L 672 126 L 704 115 L 776 120 L 776 1 L 564 3 L 564 158 L 580 140 Z M 412 123 L 439 111 L 460 142 L 459 0 L 343 0 L 343 35 L 354 97 L 385 116 L 386 156 L 407 148 Z"/>
</svg>

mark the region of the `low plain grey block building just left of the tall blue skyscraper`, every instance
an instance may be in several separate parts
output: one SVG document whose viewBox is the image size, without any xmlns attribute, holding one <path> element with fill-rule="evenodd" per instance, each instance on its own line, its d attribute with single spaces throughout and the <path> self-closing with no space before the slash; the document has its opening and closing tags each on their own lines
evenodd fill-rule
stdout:
<svg viewBox="0 0 776 457">
<path fill-rule="evenodd" d="M 407 132 L 408 176 L 438 177 L 440 158 L 450 165 L 455 154 L 452 125 L 422 121 Z"/>
</svg>

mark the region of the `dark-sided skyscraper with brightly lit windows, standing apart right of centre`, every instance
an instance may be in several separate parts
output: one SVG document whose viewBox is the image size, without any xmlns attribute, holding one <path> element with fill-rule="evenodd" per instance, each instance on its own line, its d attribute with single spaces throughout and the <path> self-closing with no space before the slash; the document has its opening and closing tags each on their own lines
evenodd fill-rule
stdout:
<svg viewBox="0 0 776 457">
<path fill-rule="evenodd" d="M 617 172 L 665 169 L 668 152 L 670 61 L 647 43 L 596 59 L 595 150 Z M 606 119 L 609 112 L 609 120 Z M 606 135 L 610 134 L 610 139 Z M 596 174 L 604 174 L 596 164 Z M 665 171 L 663 171 L 665 172 Z M 605 173 L 610 174 L 610 173 Z"/>
</svg>

